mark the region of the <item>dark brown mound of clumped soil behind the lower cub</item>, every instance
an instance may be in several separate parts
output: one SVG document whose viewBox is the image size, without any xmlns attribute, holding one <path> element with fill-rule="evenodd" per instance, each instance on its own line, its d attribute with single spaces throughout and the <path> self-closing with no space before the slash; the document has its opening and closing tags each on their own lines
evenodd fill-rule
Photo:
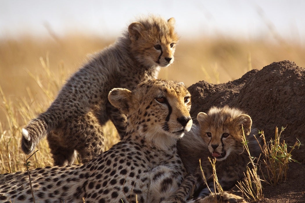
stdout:
<svg viewBox="0 0 305 203">
<path fill-rule="evenodd" d="M 191 116 L 210 107 L 237 107 L 264 130 L 266 140 L 274 138 L 275 127 L 286 127 L 281 138 L 288 146 L 297 139 L 305 144 L 305 69 L 292 61 L 274 62 L 261 70 L 251 70 L 240 79 L 223 84 L 197 82 L 188 88 L 192 95 Z M 196 120 L 194 119 L 194 123 Z M 289 149 L 288 149 L 289 150 Z M 290 163 L 287 180 L 276 186 L 264 185 L 260 202 L 305 202 L 305 147 L 292 152 L 300 163 Z"/>
</svg>

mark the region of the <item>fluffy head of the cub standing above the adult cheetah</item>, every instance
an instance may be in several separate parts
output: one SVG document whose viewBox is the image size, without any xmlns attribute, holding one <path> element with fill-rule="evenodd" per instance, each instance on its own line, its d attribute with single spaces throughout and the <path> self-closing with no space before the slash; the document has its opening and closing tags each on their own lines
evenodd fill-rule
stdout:
<svg viewBox="0 0 305 203">
<path fill-rule="evenodd" d="M 150 16 L 128 27 L 131 53 L 144 66 L 166 67 L 174 62 L 178 35 L 174 30 L 175 19 L 165 20 Z"/>
</svg>

